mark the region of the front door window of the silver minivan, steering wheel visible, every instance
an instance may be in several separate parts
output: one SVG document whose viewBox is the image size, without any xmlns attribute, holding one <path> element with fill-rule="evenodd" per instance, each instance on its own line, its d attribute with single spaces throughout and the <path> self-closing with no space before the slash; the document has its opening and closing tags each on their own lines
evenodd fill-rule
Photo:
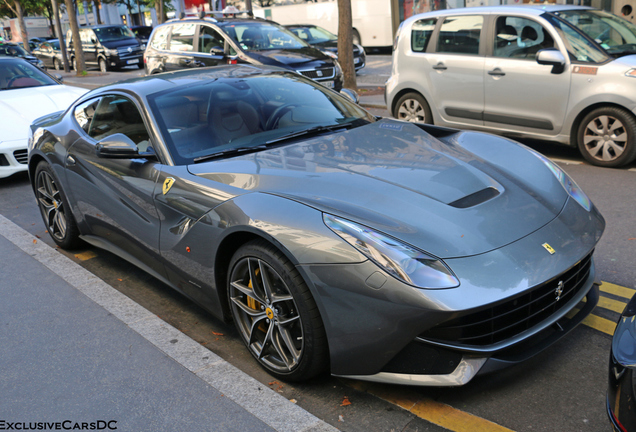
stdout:
<svg viewBox="0 0 636 432">
<path fill-rule="evenodd" d="M 520 17 L 497 18 L 495 57 L 534 60 L 539 50 L 553 47 L 554 39 L 541 24 Z"/>
</svg>

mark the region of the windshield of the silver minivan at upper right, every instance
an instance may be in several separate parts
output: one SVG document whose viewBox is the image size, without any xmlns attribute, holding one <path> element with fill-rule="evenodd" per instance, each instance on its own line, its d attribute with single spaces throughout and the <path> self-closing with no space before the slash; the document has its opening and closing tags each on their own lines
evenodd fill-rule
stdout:
<svg viewBox="0 0 636 432">
<path fill-rule="evenodd" d="M 636 54 L 636 25 L 599 10 L 559 12 L 558 16 L 594 39 L 613 56 Z"/>
</svg>

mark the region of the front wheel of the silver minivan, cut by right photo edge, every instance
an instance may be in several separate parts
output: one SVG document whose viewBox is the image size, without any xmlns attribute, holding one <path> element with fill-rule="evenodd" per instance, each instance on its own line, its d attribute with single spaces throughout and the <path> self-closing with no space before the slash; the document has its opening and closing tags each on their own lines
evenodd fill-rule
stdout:
<svg viewBox="0 0 636 432">
<path fill-rule="evenodd" d="M 583 117 L 577 144 L 592 165 L 619 167 L 636 158 L 636 118 L 617 107 L 601 107 Z"/>
</svg>

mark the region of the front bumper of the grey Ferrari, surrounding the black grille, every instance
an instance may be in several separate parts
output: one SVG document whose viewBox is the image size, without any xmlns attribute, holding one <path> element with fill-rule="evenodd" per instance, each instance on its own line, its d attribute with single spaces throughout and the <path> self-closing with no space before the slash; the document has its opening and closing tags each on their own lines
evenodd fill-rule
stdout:
<svg viewBox="0 0 636 432">
<path fill-rule="evenodd" d="M 405 285 L 369 261 L 300 266 L 323 317 L 332 374 L 401 384 L 461 385 L 478 373 L 526 360 L 567 334 L 598 302 L 590 254 L 603 229 L 604 220 L 595 208 L 587 212 L 570 199 L 552 222 L 514 243 L 481 255 L 446 259 L 460 279 L 460 286 L 452 289 Z M 556 249 L 554 255 L 542 247 L 546 241 Z M 577 279 L 576 290 L 558 303 L 554 290 L 560 288 L 560 278 L 587 257 L 588 267 Z M 558 303 L 554 312 L 505 338 L 469 345 L 460 339 L 426 337 L 441 324 L 510 305 L 546 287 L 543 292 Z M 579 305 L 585 297 L 586 304 Z M 572 317 L 577 305 L 581 310 Z"/>
</svg>

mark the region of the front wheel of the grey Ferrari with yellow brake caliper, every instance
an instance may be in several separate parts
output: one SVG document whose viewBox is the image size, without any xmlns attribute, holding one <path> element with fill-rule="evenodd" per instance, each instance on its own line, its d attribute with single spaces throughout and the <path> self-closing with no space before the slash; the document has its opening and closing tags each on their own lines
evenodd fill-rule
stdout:
<svg viewBox="0 0 636 432">
<path fill-rule="evenodd" d="M 255 240 L 236 251 L 229 270 L 232 318 L 261 367 L 285 381 L 308 380 L 325 370 L 327 336 L 294 265 L 271 244 Z"/>
</svg>

